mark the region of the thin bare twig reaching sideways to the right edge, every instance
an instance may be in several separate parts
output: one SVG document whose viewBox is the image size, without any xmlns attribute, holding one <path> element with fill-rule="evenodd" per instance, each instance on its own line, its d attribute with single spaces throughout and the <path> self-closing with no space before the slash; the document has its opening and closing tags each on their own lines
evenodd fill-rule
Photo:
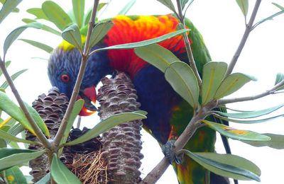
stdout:
<svg viewBox="0 0 284 184">
<path fill-rule="evenodd" d="M 264 96 L 268 96 L 271 94 L 275 94 L 275 91 L 280 88 L 280 86 L 284 85 L 284 80 L 280 81 L 280 83 L 276 84 L 273 86 L 273 88 L 269 89 L 268 91 L 265 91 L 263 93 L 259 93 L 256 96 L 246 96 L 246 97 L 241 97 L 241 98 L 230 98 L 230 99 L 221 99 L 218 100 L 218 105 L 223 105 L 227 103 L 236 103 L 236 102 L 244 102 L 244 101 L 249 101 L 249 100 L 256 100 L 258 98 L 262 98 Z"/>
</svg>

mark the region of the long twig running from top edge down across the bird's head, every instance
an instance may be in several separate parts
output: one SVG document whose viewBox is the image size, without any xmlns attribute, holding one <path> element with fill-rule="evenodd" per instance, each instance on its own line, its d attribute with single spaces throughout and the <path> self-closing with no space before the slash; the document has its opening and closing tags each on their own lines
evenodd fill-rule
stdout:
<svg viewBox="0 0 284 184">
<path fill-rule="evenodd" d="M 94 27 L 98 5 L 99 5 L 99 0 L 94 0 L 92 16 L 91 16 L 91 19 L 89 21 L 89 28 L 88 28 L 88 31 L 87 31 L 86 42 L 84 44 L 84 52 L 83 52 L 83 55 L 82 55 L 82 62 L 81 62 L 79 74 L 77 76 L 77 81 L 75 83 L 75 87 L 73 89 L 73 93 L 72 93 L 72 96 L 70 98 L 68 108 L 67 108 L 66 113 L 65 113 L 65 115 L 62 119 L 62 123 L 59 127 L 58 133 L 55 135 L 55 138 L 54 138 L 54 141 L 53 141 L 53 148 L 54 149 L 58 149 L 60 141 L 61 141 L 63 134 L 65 132 L 65 129 L 67 127 L 67 122 L 68 122 L 70 115 L 72 113 L 73 106 L 75 104 L 75 101 L 76 101 L 77 96 L 78 96 L 79 91 L 80 91 L 80 86 L 81 86 L 81 83 L 82 83 L 82 80 L 83 80 L 83 77 L 84 77 L 84 71 L 87 67 L 87 59 L 89 57 L 89 41 L 90 41 L 90 37 L 91 37 L 92 30 L 93 30 L 93 27 Z"/>
</svg>

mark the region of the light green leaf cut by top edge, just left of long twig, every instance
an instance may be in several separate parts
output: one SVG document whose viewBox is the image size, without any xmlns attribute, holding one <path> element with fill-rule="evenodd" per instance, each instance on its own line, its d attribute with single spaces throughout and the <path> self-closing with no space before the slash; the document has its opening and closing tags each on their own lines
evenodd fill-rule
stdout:
<svg viewBox="0 0 284 184">
<path fill-rule="evenodd" d="M 84 21 L 84 0 L 72 0 L 73 13 L 79 28 L 82 28 Z"/>
</svg>

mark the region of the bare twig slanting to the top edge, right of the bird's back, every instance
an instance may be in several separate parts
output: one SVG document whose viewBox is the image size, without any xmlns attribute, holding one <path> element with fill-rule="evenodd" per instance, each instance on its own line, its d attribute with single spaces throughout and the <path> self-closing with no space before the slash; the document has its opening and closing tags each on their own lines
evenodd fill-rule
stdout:
<svg viewBox="0 0 284 184">
<path fill-rule="evenodd" d="M 258 8 L 259 8 L 260 4 L 261 4 L 261 0 L 256 0 L 256 4 L 253 8 L 253 13 L 251 13 L 251 18 L 249 19 L 249 23 L 246 25 L 246 30 L 244 31 L 243 38 L 241 38 L 241 42 L 239 43 L 239 47 L 237 48 L 233 58 L 231 59 L 229 67 L 226 70 L 225 77 L 229 76 L 229 74 L 231 74 L 231 72 L 233 71 L 233 69 L 236 65 L 236 62 L 239 59 L 241 51 L 243 50 L 244 45 L 246 44 L 246 40 L 249 38 L 249 34 L 251 33 L 251 30 L 253 28 L 253 22 L 254 22 L 254 19 L 256 18 L 256 13 L 258 12 Z"/>
</svg>

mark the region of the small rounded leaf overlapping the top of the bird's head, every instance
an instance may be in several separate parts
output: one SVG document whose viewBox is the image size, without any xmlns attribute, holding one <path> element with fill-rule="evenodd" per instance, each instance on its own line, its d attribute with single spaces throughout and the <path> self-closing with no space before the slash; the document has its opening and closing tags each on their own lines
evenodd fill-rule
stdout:
<svg viewBox="0 0 284 184">
<path fill-rule="evenodd" d="M 72 23 L 67 28 L 65 28 L 62 31 L 62 38 L 77 47 L 77 49 L 82 48 L 81 33 L 77 24 Z"/>
</svg>

